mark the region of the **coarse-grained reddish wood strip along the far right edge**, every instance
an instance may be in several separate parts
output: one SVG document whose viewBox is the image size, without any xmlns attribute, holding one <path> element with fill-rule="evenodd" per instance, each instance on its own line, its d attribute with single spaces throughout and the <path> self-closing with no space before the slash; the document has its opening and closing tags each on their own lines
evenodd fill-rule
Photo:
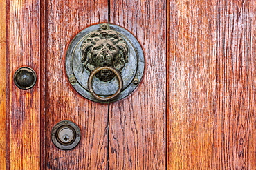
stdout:
<svg viewBox="0 0 256 170">
<path fill-rule="evenodd" d="M 216 3 L 215 169 L 256 169 L 255 1 Z"/>
</svg>

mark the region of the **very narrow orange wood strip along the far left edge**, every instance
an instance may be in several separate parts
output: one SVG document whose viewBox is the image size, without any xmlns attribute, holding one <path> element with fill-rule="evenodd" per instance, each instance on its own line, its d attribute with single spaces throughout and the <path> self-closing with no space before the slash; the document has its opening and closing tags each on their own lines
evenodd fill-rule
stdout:
<svg viewBox="0 0 256 170">
<path fill-rule="evenodd" d="M 0 1 L 0 164 L 6 169 L 6 1 Z"/>
</svg>

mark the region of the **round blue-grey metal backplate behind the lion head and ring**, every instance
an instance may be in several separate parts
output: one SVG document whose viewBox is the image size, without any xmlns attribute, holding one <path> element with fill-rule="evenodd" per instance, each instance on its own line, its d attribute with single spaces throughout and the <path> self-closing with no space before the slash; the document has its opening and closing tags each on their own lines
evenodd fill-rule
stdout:
<svg viewBox="0 0 256 170">
<path fill-rule="evenodd" d="M 131 94 L 134 89 L 136 89 L 141 81 L 141 78 L 143 77 L 145 60 L 143 56 L 143 50 L 137 39 L 130 32 L 128 32 L 124 28 L 121 28 L 118 25 L 104 23 L 92 25 L 91 27 L 82 30 L 75 36 L 75 38 L 68 47 L 68 52 L 66 54 L 66 74 L 71 85 L 79 94 L 81 94 L 85 98 L 96 102 L 104 103 L 100 100 L 97 100 L 89 92 L 88 78 L 91 74 L 92 69 L 88 68 L 91 67 L 91 65 L 87 67 L 82 62 L 84 57 L 83 50 L 85 48 L 83 46 L 84 42 L 89 40 L 91 41 L 91 34 L 94 34 L 93 32 L 97 31 L 115 32 L 115 34 L 118 34 L 119 38 L 122 41 L 125 41 L 125 45 L 127 45 L 127 49 L 129 49 L 127 52 L 127 61 L 125 61 L 125 65 L 122 67 L 122 70 L 120 70 L 120 74 L 123 80 L 122 92 L 120 92 L 120 95 L 117 96 L 115 99 L 107 101 L 108 103 L 125 98 L 126 96 Z M 99 39 L 100 37 L 102 37 L 102 35 L 99 36 Z M 118 90 L 118 79 L 114 77 L 110 81 L 101 81 L 100 78 L 94 77 L 92 87 L 93 91 L 99 96 L 111 96 L 115 94 Z"/>
</svg>

